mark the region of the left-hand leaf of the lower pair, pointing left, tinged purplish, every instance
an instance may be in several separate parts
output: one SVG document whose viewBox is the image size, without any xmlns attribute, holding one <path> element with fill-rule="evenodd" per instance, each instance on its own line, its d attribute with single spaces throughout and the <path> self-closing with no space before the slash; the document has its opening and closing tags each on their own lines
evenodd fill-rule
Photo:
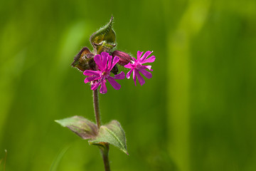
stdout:
<svg viewBox="0 0 256 171">
<path fill-rule="evenodd" d="M 55 120 L 55 122 L 59 123 L 63 127 L 69 128 L 82 139 L 87 140 L 97 136 L 97 125 L 82 116 L 75 115 L 63 120 Z"/>
</svg>

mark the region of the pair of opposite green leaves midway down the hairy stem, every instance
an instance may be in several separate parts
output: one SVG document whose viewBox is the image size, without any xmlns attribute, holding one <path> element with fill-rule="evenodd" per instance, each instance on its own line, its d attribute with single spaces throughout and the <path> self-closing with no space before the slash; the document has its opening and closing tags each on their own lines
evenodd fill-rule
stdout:
<svg viewBox="0 0 256 171">
<path fill-rule="evenodd" d="M 128 155 L 125 133 L 117 120 L 112 120 L 107 125 L 102 125 L 100 129 L 97 128 L 95 123 L 77 115 L 63 120 L 55 120 L 55 122 L 69 128 L 80 138 L 89 140 L 92 145 L 109 143 Z"/>
</svg>

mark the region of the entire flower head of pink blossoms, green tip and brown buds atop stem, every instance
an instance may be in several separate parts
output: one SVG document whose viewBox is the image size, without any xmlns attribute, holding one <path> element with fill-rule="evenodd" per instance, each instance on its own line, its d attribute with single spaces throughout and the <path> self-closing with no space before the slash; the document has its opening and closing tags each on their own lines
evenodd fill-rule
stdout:
<svg viewBox="0 0 256 171">
<path fill-rule="evenodd" d="M 87 47 L 82 48 L 71 64 L 71 66 L 78 68 L 87 76 L 85 83 L 90 83 L 92 90 L 96 90 L 100 86 L 100 93 L 102 94 L 107 93 L 107 81 L 110 82 L 114 89 L 119 90 L 121 88 L 115 80 L 124 79 L 125 74 L 124 72 L 118 73 L 117 64 L 124 68 L 129 68 L 130 71 L 126 77 L 129 79 L 133 73 L 132 77 L 135 86 L 137 78 L 142 86 L 145 80 L 140 73 L 146 78 L 151 78 L 152 74 L 149 71 L 153 71 L 151 66 L 144 66 L 143 64 L 153 63 L 156 59 L 155 56 L 150 56 L 153 51 L 146 51 L 143 56 L 143 52 L 138 51 L 137 59 L 122 51 L 112 52 L 112 49 L 117 46 L 112 24 L 113 17 L 111 17 L 107 25 L 92 33 L 90 43 L 92 44 L 93 51 L 91 52 Z M 113 77 L 110 76 L 111 73 L 114 74 Z"/>
</svg>

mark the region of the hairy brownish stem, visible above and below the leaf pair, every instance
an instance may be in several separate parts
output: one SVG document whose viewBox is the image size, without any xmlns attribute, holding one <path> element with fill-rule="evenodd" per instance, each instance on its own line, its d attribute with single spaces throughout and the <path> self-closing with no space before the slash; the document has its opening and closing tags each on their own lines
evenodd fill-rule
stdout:
<svg viewBox="0 0 256 171">
<path fill-rule="evenodd" d="M 100 130 L 100 105 L 99 105 L 99 96 L 98 91 L 93 90 L 93 107 L 95 109 L 95 119 L 97 123 L 97 128 Z M 108 159 L 108 152 L 110 150 L 110 145 L 105 143 L 103 147 L 100 147 L 100 152 L 102 153 L 102 158 L 105 166 L 105 171 L 110 171 L 110 161 Z"/>
</svg>

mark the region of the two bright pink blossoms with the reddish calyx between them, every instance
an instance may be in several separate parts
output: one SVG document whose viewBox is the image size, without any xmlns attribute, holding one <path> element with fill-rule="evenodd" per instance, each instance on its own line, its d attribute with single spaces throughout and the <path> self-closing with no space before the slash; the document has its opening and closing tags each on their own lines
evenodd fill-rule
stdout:
<svg viewBox="0 0 256 171">
<path fill-rule="evenodd" d="M 145 81 L 144 78 L 139 73 L 142 73 L 146 78 L 151 78 L 152 74 L 149 71 L 153 71 L 151 69 L 151 66 L 142 66 L 144 63 L 152 63 L 155 60 L 155 56 L 151 56 L 147 58 L 152 52 L 146 51 L 144 55 L 142 56 L 141 51 L 138 51 L 137 53 L 137 59 L 132 58 L 127 53 L 118 51 L 112 53 L 114 58 L 110 56 L 107 52 L 102 52 L 100 54 L 97 54 L 93 57 L 95 63 L 96 63 L 96 71 L 93 70 L 85 70 L 83 74 L 87 76 L 85 78 L 85 83 L 91 83 L 91 89 L 96 90 L 100 86 L 100 93 L 105 94 L 107 93 L 107 81 L 110 82 L 111 86 L 119 90 L 121 86 L 117 81 L 115 80 L 121 80 L 125 78 L 124 72 L 121 72 L 117 75 L 114 75 L 114 77 L 110 76 L 110 72 L 112 71 L 112 68 L 119 63 L 120 66 L 124 66 L 124 68 L 131 69 L 127 73 L 127 78 L 130 77 L 131 73 L 133 73 L 133 79 L 136 86 L 136 79 L 138 78 L 139 84 L 142 86 Z M 121 61 L 121 62 L 119 62 Z M 124 62 L 125 61 L 125 62 Z M 148 69 L 149 71 L 146 71 Z"/>
</svg>

